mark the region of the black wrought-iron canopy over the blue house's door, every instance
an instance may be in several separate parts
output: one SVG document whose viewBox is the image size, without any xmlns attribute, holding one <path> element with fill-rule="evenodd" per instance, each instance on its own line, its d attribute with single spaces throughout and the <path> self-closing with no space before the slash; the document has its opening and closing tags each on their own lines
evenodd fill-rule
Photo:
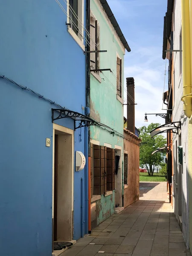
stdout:
<svg viewBox="0 0 192 256">
<path fill-rule="evenodd" d="M 57 108 L 52 108 L 52 122 L 58 119 L 63 119 L 63 118 L 72 118 L 74 120 L 74 130 L 84 127 L 84 126 L 90 126 L 90 125 L 96 125 L 96 126 L 103 126 L 105 128 L 108 128 L 110 130 L 113 130 L 111 127 L 104 125 L 100 122 L 96 122 L 94 119 L 85 116 L 81 113 L 71 111 L 68 109 L 57 109 Z M 78 124 L 76 125 L 76 122 Z"/>
</svg>

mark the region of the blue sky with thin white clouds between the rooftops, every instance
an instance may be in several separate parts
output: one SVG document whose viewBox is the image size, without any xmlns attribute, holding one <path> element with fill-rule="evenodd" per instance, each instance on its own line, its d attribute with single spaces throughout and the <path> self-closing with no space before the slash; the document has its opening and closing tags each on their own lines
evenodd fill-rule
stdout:
<svg viewBox="0 0 192 256">
<path fill-rule="evenodd" d="M 162 47 L 167 0 L 108 0 L 108 4 L 131 48 L 125 54 L 124 86 L 126 77 L 134 77 L 135 125 L 139 128 L 147 124 L 143 122 L 145 112 L 166 112 L 162 110 L 166 63 L 162 59 Z M 164 121 L 161 117 L 148 116 L 148 124 Z"/>
</svg>

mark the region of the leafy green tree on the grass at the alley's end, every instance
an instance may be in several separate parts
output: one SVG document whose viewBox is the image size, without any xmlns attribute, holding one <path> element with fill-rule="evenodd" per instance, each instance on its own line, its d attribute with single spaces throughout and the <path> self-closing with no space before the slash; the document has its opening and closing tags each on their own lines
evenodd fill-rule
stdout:
<svg viewBox="0 0 192 256">
<path fill-rule="evenodd" d="M 166 151 L 160 151 L 153 155 L 151 153 L 157 149 L 166 145 L 166 138 L 163 135 L 156 135 L 151 138 L 150 132 L 160 126 L 158 123 L 151 123 L 140 128 L 140 166 L 146 168 L 148 175 L 153 176 L 155 167 L 161 165 L 164 162 Z"/>
</svg>

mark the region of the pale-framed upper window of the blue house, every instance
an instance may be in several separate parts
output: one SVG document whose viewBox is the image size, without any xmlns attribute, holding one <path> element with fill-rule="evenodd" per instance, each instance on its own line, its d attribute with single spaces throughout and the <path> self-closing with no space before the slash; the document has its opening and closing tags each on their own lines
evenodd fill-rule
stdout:
<svg viewBox="0 0 192 256">
<path fill-rule="evenodd" d="M 68 32 L 84 50 L 84 0 L 67 0 Z"/>
</svg>

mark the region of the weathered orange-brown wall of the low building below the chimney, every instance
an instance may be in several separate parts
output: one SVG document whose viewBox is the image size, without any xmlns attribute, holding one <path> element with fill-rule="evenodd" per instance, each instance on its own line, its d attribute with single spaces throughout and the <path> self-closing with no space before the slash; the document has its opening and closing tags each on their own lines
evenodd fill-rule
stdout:
<svg viewBox="0 0 192 256">
<path fill-rule="evenodd" d="M 128 185 L 124 185 L 124 207 L 139 200 L 140 139 L 124 129 L 124 154 L 128 154 Z"/>
</svg>

